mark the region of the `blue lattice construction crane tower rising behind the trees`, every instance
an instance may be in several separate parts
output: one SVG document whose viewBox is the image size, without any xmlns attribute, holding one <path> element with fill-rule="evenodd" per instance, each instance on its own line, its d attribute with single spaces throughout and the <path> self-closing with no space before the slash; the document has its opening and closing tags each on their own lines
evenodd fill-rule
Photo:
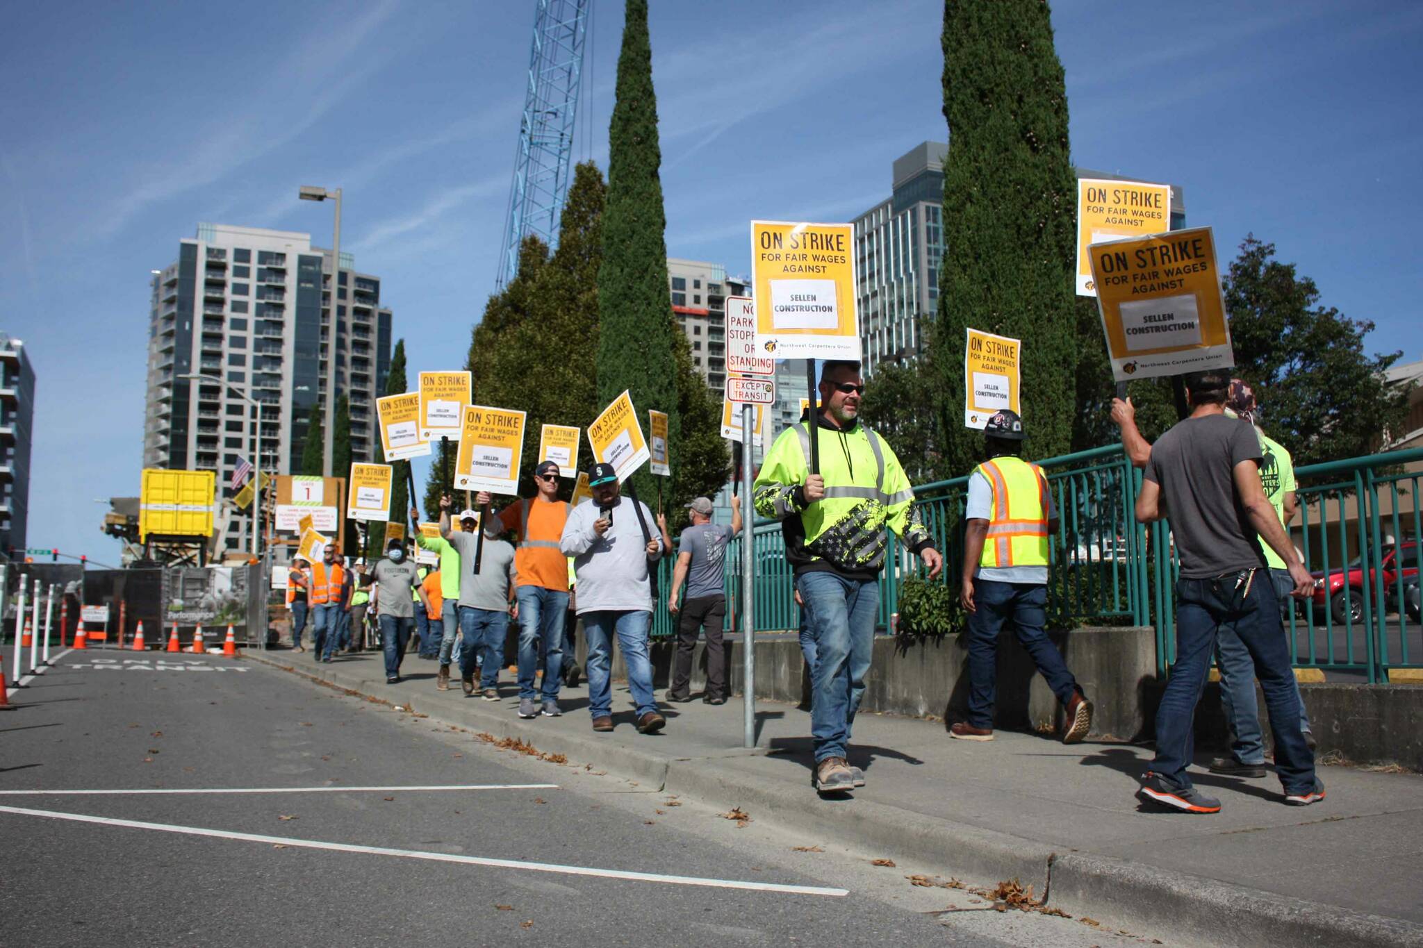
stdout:
<svg viewBox="0 0 1423 948">
<path fill-rule="evenodd" d="M 519 270 L 524 237 L 558 246 L 558 217 L 568 195 L 573 119 L 583 72 L 583 36 L 592 0 L 538 0 L 534 50 L 529 54 L 528 95 L 514 155 L 514 185 L 504 219 L 498 289 Z"/>
</svg>

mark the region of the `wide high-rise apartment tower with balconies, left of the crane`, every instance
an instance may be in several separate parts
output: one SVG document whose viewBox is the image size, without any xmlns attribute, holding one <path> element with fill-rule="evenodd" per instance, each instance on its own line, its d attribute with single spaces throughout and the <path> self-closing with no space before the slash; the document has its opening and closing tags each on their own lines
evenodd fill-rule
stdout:
<svg viewBox="0 0 1423 948">
<path fill-rule="evenodd" d="M 299 468 L 312 405 L 329 389 L 333 306 L 334 397 L 350 401 L 351 458 L 373 459 L 391 313 L 379 277 L 357 273 L 350 254 L 340 264 L 333 294 L 332 252 L 307 233 L 198 225 L 196 237 L 179 242 L 178 259 L 152 276 L 145 468 L 215 470 L 231 493 L 238 456 L 256 463 L 252 409 L 232 388 L 259 404 L 262 469 Z M 249 549 L 249 529 L 229 529 L 228 549 Z"/>
</svg>

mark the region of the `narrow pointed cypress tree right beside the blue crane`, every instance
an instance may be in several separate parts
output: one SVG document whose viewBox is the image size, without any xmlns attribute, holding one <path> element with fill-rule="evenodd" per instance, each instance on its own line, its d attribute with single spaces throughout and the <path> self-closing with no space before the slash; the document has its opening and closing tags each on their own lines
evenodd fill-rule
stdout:
<svg viewBox="0 0 1423 948">
<path fill-rule="evenodd" d="M 676 470 L 687 446 L 682 443 L 676 361 L 680 333 L 667 289 L 660 165 L 647 0 L 628 0 L 608 134 L 608 206 L 598 271 L 598 404 L 606 405 L 628 389 L 645 428 L 649 408 L 667 412 Z M 636 486 L 645 502 L 655 497 L 646 466 L 636 475 Z"/>
</svg>

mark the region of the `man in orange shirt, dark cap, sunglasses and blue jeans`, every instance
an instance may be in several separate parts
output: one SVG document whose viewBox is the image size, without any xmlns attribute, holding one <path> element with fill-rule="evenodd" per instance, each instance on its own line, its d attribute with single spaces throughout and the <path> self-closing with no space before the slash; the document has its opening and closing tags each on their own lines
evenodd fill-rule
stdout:
<svg viewBox="0 0 1423 948">
<path fill-rule="evenodd" d="M 534 468 L 538 493 L 521 497 L 499 512 L 499 523 L 515 533 L 514 566 L 518 583 L 519 718 L 556 718 L 558 691 L 564 684 L 564 613 L 568 611 L 568 559 L 558 542 L 568 523 L 568 503 L 558 499 L 558 465 L 542 460 Z M 487 505 L 480 492 L 475 502 Z M 539 645 L 544 647 L 544 686 L 538 686 Z M 568 657 L 572 661 L 572 655 Z"/>
</svg>

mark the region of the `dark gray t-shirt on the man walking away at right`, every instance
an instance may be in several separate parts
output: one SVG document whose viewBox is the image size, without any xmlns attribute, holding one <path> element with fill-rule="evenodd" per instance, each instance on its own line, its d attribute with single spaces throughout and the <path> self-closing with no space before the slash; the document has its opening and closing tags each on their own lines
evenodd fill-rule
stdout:
<svg viewBox="0 0 1423 948">
<path fill-rule="evenodd" d="M 1225 415 L 1187 418 L 1151 446 L 1144 476 L 1161 488 L 1183 578 L 1265 566 L 1235 490 L 1234 470 L 1242 460 L 1259 463 L 1259 439 L 1249 422 Z"/>
</svg>

